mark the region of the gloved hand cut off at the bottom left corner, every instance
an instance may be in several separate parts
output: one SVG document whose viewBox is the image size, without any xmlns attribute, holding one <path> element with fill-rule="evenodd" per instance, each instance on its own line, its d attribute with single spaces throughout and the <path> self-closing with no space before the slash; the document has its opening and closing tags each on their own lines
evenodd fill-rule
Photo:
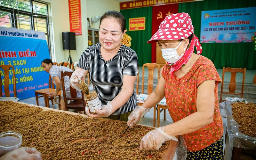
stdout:
<svg viewBox="0 0 256 160">
<path fill-rule="evenodd" d="M 41 160 L 42 154 L 35 148 L 20 147 L 0 157 L 0 160 Z"/>
</svg>

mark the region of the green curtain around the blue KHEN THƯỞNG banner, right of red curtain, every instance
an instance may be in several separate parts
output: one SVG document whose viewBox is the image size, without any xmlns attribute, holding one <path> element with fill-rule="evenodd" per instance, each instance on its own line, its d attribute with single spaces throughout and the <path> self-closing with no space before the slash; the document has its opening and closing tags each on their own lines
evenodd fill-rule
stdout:
<svg viewBox="0 0 256 160">
<path fill-rule="evenodd" d="M 255 7 L 255 0 L 233 1 L 214 0 L 198 1 L 179 4 L 178 12 L 187 12 L 194 25 L 194 33 L 199 38 L 202 11 L 224 10 L 234 8 Z M 202 55 L 209 58 L 216 68 L 232 67 L 255 70 L 256 53 L 252 42 L 244 43 L 201 43 Z"/>
</svg>

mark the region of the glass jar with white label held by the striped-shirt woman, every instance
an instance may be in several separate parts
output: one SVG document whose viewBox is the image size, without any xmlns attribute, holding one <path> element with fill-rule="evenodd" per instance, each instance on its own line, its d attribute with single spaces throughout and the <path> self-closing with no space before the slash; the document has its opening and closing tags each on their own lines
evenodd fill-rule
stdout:
<svg viewBox="0 0 256 160">
<path fill-rule="evenodd" d="M 97 114 L 95 113 L 96 109 L 101 110 L 100 99 L 96 91 L 92 90 L 92 91 L 89 91 L 89 94 L 84 94 L 84 100 L 92 114 Z"/>
</svg>

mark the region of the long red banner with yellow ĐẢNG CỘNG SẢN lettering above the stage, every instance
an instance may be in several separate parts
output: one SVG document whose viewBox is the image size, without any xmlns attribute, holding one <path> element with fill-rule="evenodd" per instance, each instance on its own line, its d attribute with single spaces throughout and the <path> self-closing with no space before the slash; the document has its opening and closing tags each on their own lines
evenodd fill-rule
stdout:
<svg viewBox="0 0 256 160">
<path fill-rule="evenodd" d="M 204 0 L 137 0 L 120 3 L 120 10 Z"/>
</svg>

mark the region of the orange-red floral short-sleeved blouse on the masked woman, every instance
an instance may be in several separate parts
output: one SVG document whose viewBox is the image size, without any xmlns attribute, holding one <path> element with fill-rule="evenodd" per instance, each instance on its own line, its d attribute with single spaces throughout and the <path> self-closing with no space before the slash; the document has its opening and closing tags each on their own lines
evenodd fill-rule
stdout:
<svg viewBox="0 0 256 160">
<path fill-rule="evenodd" d="M 200 56 L 187 74 L 181 78 L 170 75 L 171 67 L 164 65 L 161 74 L 165 79 L 165 98 L 168 111 L 174 122 L 177 122 L 197 111 L 197 87 L 207 80 L 215 80 L 215 110 L 211 124 L 183 135 L 188 151 L 202 150 L 216 142 L 223 135 L 223 122 L 218 101 L 218 84 L 220 76 L 213 63 L 206 57 Z"/>
</svg>

